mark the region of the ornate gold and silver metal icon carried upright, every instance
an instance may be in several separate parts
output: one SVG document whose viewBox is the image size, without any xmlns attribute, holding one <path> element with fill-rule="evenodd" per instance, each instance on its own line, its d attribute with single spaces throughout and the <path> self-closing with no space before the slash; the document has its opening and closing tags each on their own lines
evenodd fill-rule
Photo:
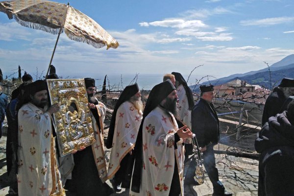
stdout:
<svg viewBox="0 0 294 196">
<path fill-rule="evenodd" d="M 96 142 L 84 79 L 48 79 L 51 104 L 60 111 L 53 114 L 60 156 Z"/>
</svg>

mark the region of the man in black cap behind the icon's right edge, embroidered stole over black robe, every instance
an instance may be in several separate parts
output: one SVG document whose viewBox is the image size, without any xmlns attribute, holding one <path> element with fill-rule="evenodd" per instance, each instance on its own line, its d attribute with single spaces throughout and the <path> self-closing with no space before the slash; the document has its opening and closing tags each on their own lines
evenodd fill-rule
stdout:
<svg viewBox="0 0 294 196">
<path fill-rule="evenodd" d="M 84 78 L 88 94 L 89 108 L 98 126 L 96 143 L 81 149 L 73 154 L 74 168 L 72 179 L 67 180 L 66 189 L 77 196 L 109 196 L 113 190 L 105 183 L 107 180 L 106 161 L 104 158 L 103 121 L 106 115 L 106 106 L 95 97 L 95 79 Z M 72 105 L 76 110 L 75 105 Z"/>
</svg>

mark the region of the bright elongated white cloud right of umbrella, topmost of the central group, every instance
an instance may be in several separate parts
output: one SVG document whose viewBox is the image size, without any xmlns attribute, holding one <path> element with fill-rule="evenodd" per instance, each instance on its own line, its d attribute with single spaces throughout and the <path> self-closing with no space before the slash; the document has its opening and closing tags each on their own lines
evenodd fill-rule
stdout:
<svg viewBox="0 0 294 196">
<path fill-rule="evenodd" d="M 205 27 L 205 25 L 200 20 L 191 20 L 186 21 L 183 19 L 173 19 L 173 20 L 164 20 L 164 21 L 154 21 L 150 23 L 139 23 L 141 26 L 161 26 L 161 27 L 172 27 L 172 28 L 199 28 L 199 27 Z"/>
</svg>

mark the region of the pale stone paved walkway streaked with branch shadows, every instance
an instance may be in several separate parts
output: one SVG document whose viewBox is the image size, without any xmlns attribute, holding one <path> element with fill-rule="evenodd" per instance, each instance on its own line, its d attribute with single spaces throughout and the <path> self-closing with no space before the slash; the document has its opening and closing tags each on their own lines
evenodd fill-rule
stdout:
<svg viewBox="0 0 294 196">
<path fill-rule="evenodd" d="M 0 196 L 9 196 L 5 146 L 6 137 L 3 136 L 0 139 Z M 215 149 L 226 150 L 227 146 L 217 145 Z M 257 196 L 258 161 L 217 154 L 216 162 L 220 173 L 220 180 L 229 192 L 232 192 L 234 196 Z M 110 185 L 109 181 L 107 183 Z M 112 194 L 111 196 L 128 196 L 128 191 L 128 189 L 123 189 L 121 193 Z M 211 196 L 212 193 L 212 184 L 207 173 L 205 174 L 204 184 L 194 187 L 185 186 L 186 196 Z M 73 195 L 67 194 L 67 196 Z"/>
</svg>

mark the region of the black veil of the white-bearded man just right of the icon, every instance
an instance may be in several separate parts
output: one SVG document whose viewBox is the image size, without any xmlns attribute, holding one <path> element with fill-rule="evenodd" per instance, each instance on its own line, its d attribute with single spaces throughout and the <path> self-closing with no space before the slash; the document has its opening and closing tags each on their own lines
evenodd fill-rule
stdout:
<svg viewBox="0 0 294 196">
<path fill-rule="evenodd" d="M 106 140 L 106 143 L 105 143 L 105 146 L 108 149 L 112 147 L 116 114 L 117 114 L 117 111 L 118 111 L 119 107 L 123 104 L 123 102 L 129 100 L 136 93 L 138 93 L 139 90 L 140 89 L 139 89 L 139 86 L 138 86 L 137 83 L 126 86 L 123 89 L 123 93 L 121 94 L 120 98 L 118 99 L 118 102 L 116 103 L 116 105 L 115 105 L 115 107 L 113 109 L 113 113 L 112 113 L 112 117 L 111 117 L 111 121 L 110 121 L 110 125 L 109 125 L 109 130 L 108 130 L 108 136 L 107 136 L 107 140 Z"/>
</svg>

